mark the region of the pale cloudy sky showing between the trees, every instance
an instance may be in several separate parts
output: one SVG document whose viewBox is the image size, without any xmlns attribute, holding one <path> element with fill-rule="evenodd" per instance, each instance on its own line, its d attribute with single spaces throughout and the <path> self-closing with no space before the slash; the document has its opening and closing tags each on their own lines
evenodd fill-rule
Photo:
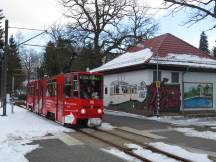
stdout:
<svg viewBox="0 0 216 162">
<path fill-rule="evenodd" d="M 162 2 L 162 0 L 140 0 L 140 5 L 149 4 L 152 7 L 158 7 Z M 3 9 L 3 14 L 9 20 L 9 26 L 47 29 L 53 23 L 65 21 L 59 0 L 0 0 L 0 9 Z M 213 21 L 207 20 L 187 27 L 182 26 L 187 18 L 185 12 L 180 12 L 174 16 L 167 15 L 166 11 L 162 11 L 155 17 L 160 25 L 157 35 L 171 33 L 196 47 L 199 44 L 200 33 L 208 29 L 212 23 L 211 21 Z M 17 30 L 9 29 L 9 32 L 14 34 Z M 38 33 L 25 30 L 20 30 L 20 32 L 26 39 Z M 216 40 L 216 30 L 206 31 L 206 34 L 211 49 L 216 45 L 214 42 Z M 46 41 L 47 38 L 42 36 L 29 43 L 45 45 Z"/>
</svg>

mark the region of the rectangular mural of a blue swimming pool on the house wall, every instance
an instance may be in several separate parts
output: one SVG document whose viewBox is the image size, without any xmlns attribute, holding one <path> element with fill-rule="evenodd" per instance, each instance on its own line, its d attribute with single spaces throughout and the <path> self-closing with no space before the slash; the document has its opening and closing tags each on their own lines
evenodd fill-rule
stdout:
<svg viewBox="0 0 216 162">
<path fill-rule="evenodd" d="M 184 83 L 184 108 L 213 108 L 213 85 Z"/>
</svg>

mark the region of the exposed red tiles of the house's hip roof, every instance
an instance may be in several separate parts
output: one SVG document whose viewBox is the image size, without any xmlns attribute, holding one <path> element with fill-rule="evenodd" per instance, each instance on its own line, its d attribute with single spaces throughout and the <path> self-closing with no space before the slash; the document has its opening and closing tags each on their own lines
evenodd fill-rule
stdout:
<svg viewBox="0 0 216 162">
<path fill-rule="evenodd" d="M 145 40 L 141 44 L 143 45 L 143 47 L 140 45 L 138 47 L 130 47 L 128 49 L 128 52 L 136 52 L 144 48 L 150 48 L 153 51 L 154 55 L 158 54 L 159 57 L 165 57 L 169 53 L 173 53 L 191 54 L 199 57 L 213 58 L 209 54 L 169 33 L 154 37 L 149 40 Z"/>
</svg>

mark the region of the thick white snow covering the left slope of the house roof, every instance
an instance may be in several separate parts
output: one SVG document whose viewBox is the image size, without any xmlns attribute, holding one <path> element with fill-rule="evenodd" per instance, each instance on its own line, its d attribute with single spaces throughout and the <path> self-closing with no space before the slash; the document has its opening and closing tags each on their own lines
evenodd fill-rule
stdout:
<svg viewBox="0 0 216 162">
<path fill-rule="evenodd" d="M 138 65 L 146 62 L 152 57 L 153 53 L 150 49 L 140 50 L 138 52 L 126 52 L 108 63 L 90 70 L 91 72 L 117 69 L 132 65 Z"/>
</svg>

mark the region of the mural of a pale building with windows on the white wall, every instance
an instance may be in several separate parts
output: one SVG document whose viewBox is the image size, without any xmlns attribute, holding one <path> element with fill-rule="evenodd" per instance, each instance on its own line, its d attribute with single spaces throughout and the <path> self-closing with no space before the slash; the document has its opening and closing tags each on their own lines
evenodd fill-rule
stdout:
<svg viewBox="0 0 216 162">
<path fill-rule="evenodd" d="M 143 102 L 147 95 L 147 86 L 144 81 L 130 84 L 125 81 L 113 81 L 110 86 L 110 101 L 119 104 L 130 100 Z"/>
</svg>

